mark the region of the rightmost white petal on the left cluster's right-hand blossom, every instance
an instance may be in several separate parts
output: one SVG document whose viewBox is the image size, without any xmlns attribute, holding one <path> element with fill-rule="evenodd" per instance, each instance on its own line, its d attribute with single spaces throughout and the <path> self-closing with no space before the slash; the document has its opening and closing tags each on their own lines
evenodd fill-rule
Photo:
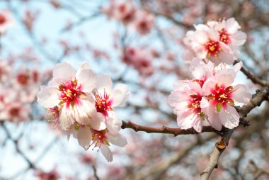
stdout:
<svg viewBox="0 0 269 180">
<path fill-rule="evenodd" d="M 113 107 L 122 107 L 128 100 L 130 92 L 126 84 L 117 84 L 111 94 Z"/>
</svg>

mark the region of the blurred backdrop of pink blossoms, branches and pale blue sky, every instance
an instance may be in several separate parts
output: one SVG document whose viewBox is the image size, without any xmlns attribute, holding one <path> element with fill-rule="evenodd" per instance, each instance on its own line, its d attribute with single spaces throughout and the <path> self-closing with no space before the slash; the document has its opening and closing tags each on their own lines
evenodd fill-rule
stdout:
<svg viewBox="0 0 269 180">
<path fill-rule="evenodd" d="M 267 0 L 1 0 L 0 179 L 199 179 L 215 133 L 120 130 L 128 145 L 113 147 L 108 163 L 74 138 L 67 142 L 35 96 L 55 64 L 77 68 L 86 61 L 93 72 L 129 86 L 127 106 L 115 109 L 121 120 L 176 128 L 167 96 L 176 80 L 191 77 L 181 57 L 185 33 L 193 24 L 231 17 L 248 37 L 239 60 L 268 80 Z M 252 93 L 260 89 L 244 74 L 237 78 Z M 268 103 L 247 119 L 251 125 L 236 128 L 211 179 L 269 179 Z"/>
</svg>

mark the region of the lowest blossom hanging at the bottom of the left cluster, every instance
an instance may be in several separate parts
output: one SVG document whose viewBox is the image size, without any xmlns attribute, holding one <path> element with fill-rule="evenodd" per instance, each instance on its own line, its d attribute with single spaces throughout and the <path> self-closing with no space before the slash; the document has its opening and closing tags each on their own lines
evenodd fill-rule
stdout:
<svg viewBox="0 0 269 180">
<path fill-rule="evenodd" d="M 92 129 L 92 135 L 93 139 L 89 147 L 93 146 L 93 149 L 98 147 L 108 162 L 113 161 L 113 154 L 109 149 L 110 143 L 119 147 L 125 147 L 127 145 L 125 137 L 118 132 L 111 133 L 108 130 L 98 131 Z"/>
</svg>

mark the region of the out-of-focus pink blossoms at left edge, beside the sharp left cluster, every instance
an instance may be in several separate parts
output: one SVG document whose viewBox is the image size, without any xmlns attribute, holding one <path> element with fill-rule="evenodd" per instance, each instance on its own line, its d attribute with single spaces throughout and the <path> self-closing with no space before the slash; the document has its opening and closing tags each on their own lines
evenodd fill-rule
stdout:
<svg viewBox="0 0 269 180">
<path fill-rule="evenodd" d="M 0 60 L 0 120 L 12 123 L 30 120 L 31 104 L 46 77 L 47 72 Z"/>
</svg>

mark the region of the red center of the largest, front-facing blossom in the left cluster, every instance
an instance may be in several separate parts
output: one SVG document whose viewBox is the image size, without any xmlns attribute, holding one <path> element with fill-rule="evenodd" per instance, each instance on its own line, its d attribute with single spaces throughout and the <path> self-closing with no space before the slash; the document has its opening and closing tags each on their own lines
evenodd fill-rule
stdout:
<svg viewBox="0 0 269 180">
<path fill-rule="evenodd" d="M 85 95 L 76 79 L 60 84 L 59 91 L 59 99 L 62 100 L 59 104 L 67 103 L 67 108 L 69 108 L 70 104 L 74 107 L 75 104 L 80 103 L 79 97 Z"/>
</svg>

